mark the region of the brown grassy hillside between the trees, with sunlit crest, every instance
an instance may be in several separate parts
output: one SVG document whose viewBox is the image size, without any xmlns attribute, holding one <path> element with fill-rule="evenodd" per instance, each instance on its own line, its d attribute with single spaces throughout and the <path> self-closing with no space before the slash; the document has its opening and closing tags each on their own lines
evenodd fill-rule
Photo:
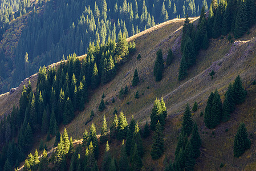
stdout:
<svg viewBox="0 0 256 171">
<path fill-rule="evenodd" d="M 191 19 L 191 21 L 197 18 Z M 165 153 L 159 160 L 152 161 L 149 154 L 152 137 L 144 141 L 145 155 L 143 165 L 145 169 L 153 168 L 161 170 L 164 168 L 165 158 L 174 160 L 174 150 L 176 147 L 178 133 L 180 132 L 182 111 L 185 104 L 190 106 L 197 101 L 198 111 L 192 113 L 193 120 L 197 121 L 198 131 L 202 139 L 201 156 L 197 159 L 196 170 L 220 170 L 220 164 L 224 164 L 225 170 L 254 170 L 255 164 L 255 95 L 256 86 L 251 83 L 255 79 L 256 71 L 256 28 L 251 28 L 250 34 L 236 39 L 230 43 L 225 37 L 223 39 L 211 39 L 208 50 L 201 50 L 197 56 L 196 65 L 188 71 L 188 77 L 182 82 L 178 82 L 178 67 L 181 60 L 180 39 L 184 19 L 174 19 L 162 23 L 161 25 L 152 27 L 141 32 L 138 35 L 128 38 L 128 41 L 135 40 L 137 52 L 121 66 L 117 72 L 115 79 L 104 86 L 95 89 L 91 93 L 90 101 L 86 104 L 86 109 L 81 113 L 76 113 L 75 119 L 66 126 L 68 134 L 75 139 L 81 139 L 84 129 L 90 128 L 91 123 L 96 124 L 97 132 L 100 132 L 101 120 L 105 115 L 108 126 L 113 120 L 113 110 L 124 111 L 128 121 L 134 115 L 140 125 L 146 120 L 150 120 L 150 112 L 153 101 L 156 97 L 164 97 L 165 105 L 168 111 L 168 117 L 165 127 Z M 174 60 L 169 67 L 165 67 L 164 76 L 161 82 L 155 82 L 153 78 L 153 66 L 156 59 L 156 51 L 162 48 L 164 58 L 166 58 L 169 48 L 172 48 Z M 137 55 L 141 54 L 141 59 L 137 60 Z M 131 86 L 133 72 L 137 68 L 139 72 L 140 83 L 136 88 Z M 214 70 L 216 74 L 214 79 L 209 76 L 210 71 Z M 224 92 L 229 83 L 237 75 L 240 75 L 244 86 L 247 89 L 247 97 L 245 103 L 237 105 L 235 112 L 232 113 L 231 119 L 227 123 L 218 125 L 215 129 L 208 129 L 203 123 L 203 117 L 200 112 L 204 112 L 207 98 L 210 92 L 216 88 L 224 100 Z M 30 81 L 32 87 L 36 84 L 36 75 L 31 76 Z M 27 84 L 27 81 L 24 82 Z M 117 98 L 121 87 L 127 85 L 129 94 L 123 100 Z M 10 101 L 18 103 L 22 86 L 12 95 L 8 93 L 0 95 L 1 113 L 11 111 L 12 105 Z M 135 92 L 139 90 L 140 98 L 135 99 Z M 105 94 L 105 101 L 108 101 L 107 109 L 103 112 L 97 111 L 101 95 Z M 116 102 L 111 103 L 111 99 L 115 98 Z M 10 100 L 13 98 L 13 100 Z M 91 109 L 95 112 L 94 119 L 85 125 L 90 117 Z M 240 158 L 233 157 L 233 141 L 239 123 L 244 122 L 248 129 L 250 139 L 252 141 L 251 149 L 247 150 Z M 63 127 L 62 127 L 63 128 Z M 214 132 L 214 133 L 213 133 Z M 214 134 L 214 135 L 213 135 Z M 38 140 L 39 141 L 39 140 Z M 54 140 L 48 143 L 53 144 Z M 37 146 L 39 142 L 35 145 Z M 112 142 L 111 149 L 116 149 L 120 142 Z M 37 146 L 38 148 L 38 146 Z M 102 153 L 104 145 L 100 146 Z M 118 150 L 113 151 L 114 156 L 118 156 Z"/>
</svg>

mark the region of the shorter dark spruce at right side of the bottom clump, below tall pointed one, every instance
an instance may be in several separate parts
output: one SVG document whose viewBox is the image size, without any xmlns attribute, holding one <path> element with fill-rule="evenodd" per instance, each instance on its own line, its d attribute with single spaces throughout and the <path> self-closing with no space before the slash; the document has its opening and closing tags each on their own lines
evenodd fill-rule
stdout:
<svg viewBox="0 0 256 171">
<path fill-rule="evenodd" d="M 193 147 L 193 157 L 197 158 L 200 156 L 200 147 L 202 145 L 200 135 L 198 133 L 197 124 L 194 123 L 191 139 L 189 140 Z"/>
</svg>

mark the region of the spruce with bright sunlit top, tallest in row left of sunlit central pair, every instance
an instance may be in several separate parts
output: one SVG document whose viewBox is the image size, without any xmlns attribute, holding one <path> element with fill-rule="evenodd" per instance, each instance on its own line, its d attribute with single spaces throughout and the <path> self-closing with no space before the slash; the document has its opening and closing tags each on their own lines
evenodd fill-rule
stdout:
<svg viewBox="0 0 256 171">
<path fill-rule="evenodd" d="M 128 123 L 127 123 L 126 117 L 124 115 L 124 112 L 121 111 L 118 118 L 117 139 L 119 140 L 125 139 L 127 135 L 127 128 L 128 128 Z"/>
</svg>

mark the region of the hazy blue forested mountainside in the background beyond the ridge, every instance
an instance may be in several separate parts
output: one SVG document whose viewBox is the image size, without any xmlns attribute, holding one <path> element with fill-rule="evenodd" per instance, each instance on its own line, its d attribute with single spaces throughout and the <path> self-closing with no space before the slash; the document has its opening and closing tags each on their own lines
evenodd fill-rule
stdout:
<svg viewBox="0 0 256 171">
<path fill-rule="evenodd" d="M 203 5 L 208 10 L 209 3 L 206 0 L 55 0 L 39 1 L 38 5 L 21 1 L 21 10 L 15 13 L 14 18 L 32 12 L 27 14 L 27 23 L 19 21 L 19 25 L 26 26 L 22 28 L 20 38 L 12 39 L 18 44 L 1 48 L 0 62 L 3 68 L 0 72 L 0 92 L 17 87 L 21 80 L 37 72 L 40 66 L 58 62 L 63 55 L 74 52 L 83 55 L 90 43 L 105 43 L 108 38 L 117 40 L 120 31 L 127 32 L 127 37 L 132 36 L 168 19 L 185 17 L 186 13 L 190 17 L 199 15 Z M 43 7 L 38 9 L 41 5 Z M 13 17 L 9 13 L 7 21 L 9 15 L 5 14 L 3 23 L 7 25 Z M 4 34 L 3 38 L 5 36 L 8 34 Z"/>
</svg>

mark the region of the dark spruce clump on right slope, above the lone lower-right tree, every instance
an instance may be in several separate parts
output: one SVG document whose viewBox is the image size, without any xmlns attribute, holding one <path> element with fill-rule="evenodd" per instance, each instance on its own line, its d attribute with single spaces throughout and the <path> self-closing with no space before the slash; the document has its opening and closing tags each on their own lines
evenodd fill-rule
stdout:
<svg viewBox="0 0 256 171">
<path fill-rule="evenodd" d="M 246 91 L 242 86 L 242 80 L 238 75 L 233 84 L 229 85 L 222 104 L 221 97 L 216 91 L 208 97 L 205 107 L 204 122 L 207 128 L 215 128 L 221 121 L 228 121 L 230 113 L 234 111 L 235 104 L 245 101 Z"/>
</svg>

